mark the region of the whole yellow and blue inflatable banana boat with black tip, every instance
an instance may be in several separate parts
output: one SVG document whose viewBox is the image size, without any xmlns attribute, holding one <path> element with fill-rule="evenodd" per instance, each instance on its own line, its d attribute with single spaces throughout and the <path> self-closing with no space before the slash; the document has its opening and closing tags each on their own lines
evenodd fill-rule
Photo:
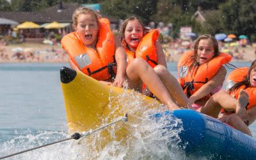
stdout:
<svg viewBox="0 0 256 160">
<path fill-rule="evenodd" d="M 211 158 L 212 155 L 215 155 L 216 158 L 221 157 L 222 159 L 253 159 L 256 156 L 256 140 L 254 138 L 223 124 L 215 118 L 191 109 L 163 112 L 165 107 L 161 106 L 155 99 L 131 90 L 102 84 L 79 70 L 76 71 L 67 67 L 61 68 L 61 87 L 70 133 L 97 129 L 128 113 L 128 124 L 120 122 L 120 124 L 115 124 L 113 129 L 100 131 L 99 137 L 86 139 L 89 142 L 87 144 L 92 144 L 88 148 L 89 153 L 95 152 L 95 149 L 97 152 L 101 152 L 102 148 L 113 141 L 117 141 L 118 143 L 115 144 L 118 146 L 123 145 L 126 148 L 131 145 L 130 142 L 136 139 L 134 138 L 136 136 L 144 136 L 143 141 L 147 141 L 150 139 L 148 138 L 150 132 L 163 131 L 156 136 L 153 134 L 151 138 L 163 136 L 165 139 L 163 139 L 164 143 L 161 143 L 161 146 L 168 145 L 168 148 L 172 148 L 173 145 L 172 143 L 169 145 L 167 142 L 177 141 L 174 146 L 180 146 L 182 150 L 186 151 L 186 154 Z M 145 115 L 143 113 L 148 111 L 152 114 L 149 114 L 150 116 L 147 118 L 143 117 Z M 134 130 L 138 128 L 138 124 L 143 125 L 140 123 L 143 118 L 144 120 L 149 119 L 148 122 L 152 123 L 148 127 L 150 129 L 145 131 L 145 128 L 142 128 L 140 130 L 142 134 L 134 135 Z M 154 127 L 153 123 L 159 120 L 165 121 L 160 121 L 160 125 L 157 124 L 160 127 L 151 129 Z M 179 137 L 177 137 L 178 134 Z M 156 144 L 157 147 L 159 146 Z M 127 151 L 127 153 L 129 152 Z"/>
</svg>

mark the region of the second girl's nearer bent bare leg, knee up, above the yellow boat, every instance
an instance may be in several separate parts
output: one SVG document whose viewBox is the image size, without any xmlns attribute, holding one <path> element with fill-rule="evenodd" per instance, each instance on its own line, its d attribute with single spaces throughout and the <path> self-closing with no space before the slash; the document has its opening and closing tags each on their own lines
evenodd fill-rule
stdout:
<svg viewBox="0 0 256 160">
<path fill-rule="evenodd" d="M 168 90 L 165 88 L 161 79 L 154 72 L 153 68 L 142 59 L 134 59 L 126 68 L 126 74 L 128 77 L 128 85 L 137 91 L 141 90 L 142 81 L 148 87 L 148 89 L 161 100 L 168 109 L 180 109 L 170 97 Z"/>
</svg>

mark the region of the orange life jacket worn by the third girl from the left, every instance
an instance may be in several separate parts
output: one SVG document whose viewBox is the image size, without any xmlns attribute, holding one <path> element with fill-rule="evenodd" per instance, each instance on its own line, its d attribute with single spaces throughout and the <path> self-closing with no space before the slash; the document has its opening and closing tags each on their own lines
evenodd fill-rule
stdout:
<svg viewBox="0 0 256 160">
<path fill-rule="evenodd" d="M 204 63 L 198 68 L 189 70 L 189 66 L 193 63 L 193 60 L 191 60 L 193 55 L 194 51 L 186 52 L 180 58 L 177 65 L 179 83 L 188 97 L 193 95 L 193 93 L 211 80 L 220 70 L 221 66 L 232 59 L 232 56 L 229 54 L 221 52 L 208 63 Z"/>
</svg>

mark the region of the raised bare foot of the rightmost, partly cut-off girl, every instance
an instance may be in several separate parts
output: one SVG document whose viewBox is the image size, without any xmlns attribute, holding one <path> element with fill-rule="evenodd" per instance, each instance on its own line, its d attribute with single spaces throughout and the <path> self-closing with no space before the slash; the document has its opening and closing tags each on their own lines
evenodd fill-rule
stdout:
<svg viewBox="0 0 256 160">
<path fill-rule="evenodd" d="M 238 99 L 237 99 L 237 105 L 236 105 L 236 113 L 238 115 L 242 114 L 245 107 L 248 104 L 248 99 L 249 96 L 248 94 L 245 92 L 245 90 L 240 90 L 239 95 L 238 95 Z"/>
</svg>

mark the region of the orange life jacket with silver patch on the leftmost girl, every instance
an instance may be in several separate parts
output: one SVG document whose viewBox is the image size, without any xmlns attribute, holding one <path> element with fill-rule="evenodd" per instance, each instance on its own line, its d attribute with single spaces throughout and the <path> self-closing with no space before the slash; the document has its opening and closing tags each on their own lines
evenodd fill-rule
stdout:
<svg viewBox="0 0 256 160">
<path fill-rule="evenodd" d="M 76 32 L 65 35 L 61 40 L 63 49 L 84 74 L 99 81 L 106 81 L 116 75 L 115 38 L 108 19 L 99 19 L 99 33 L 96 50 L 85 47 Z"/>
</svg>

